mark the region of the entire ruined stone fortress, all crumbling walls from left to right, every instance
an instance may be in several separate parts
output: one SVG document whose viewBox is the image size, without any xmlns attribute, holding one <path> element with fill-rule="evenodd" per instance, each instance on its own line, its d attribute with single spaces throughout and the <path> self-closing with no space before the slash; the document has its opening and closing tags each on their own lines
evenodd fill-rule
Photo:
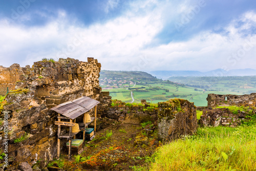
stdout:
<svg viewBox="0 0 256 171">
<path fill-rule="evenodd" d="M 87 62 L 72 58 L 60 58 L 58 61 L 43 60 L 34 62 L 32 67 L 24 68 L 18 64 L 13 64 L 9 68 L 0 66 L 0 95 L 6 95 L 0 106 L 2 109 L 0 117 L 3 118 L 6 114 L 9 116 L 10 164 L 26 161 L 33 165 L 37 161 L 43 161 L 40 164 L 44 167 L 56 158 L 58 128 L 54 122 L 58 114 L 50 109 L 82 96 L 100 102 L 97 106 L 96 130 L 108 126 L 104 119 L 108 118 L 129 124 L 158 120 L 159 140 L 172 140 L 196 132 L 198 124 L 194 103 L 183 99 L 171 99 L 159 102 L 158 108 L 149 110 L 148 103 L 143 100 L 143 106 L 127 106 L 124 102 L 112 101 L 109 92 L 101 92 L 100 69 L 101 64 L 94 58 L 88 58 Z M 228 112 L 214 111 L 206 115 L 206 111 L 216 105 L 227 103 L 255 106 L 255 96 L 255 94 L 244 96 L 209 94 L 207 98 L 209 108 L 204 109 L 200 123 L 205 126 L 216 126 L 218 123 L 228 125 L 233 118 L 239 120 L 244 114 L 236 118 Z M 113 103 L 116 105 L 112 105 Z M 95 115 L 93 109 L 89 113 L 91 116 Z M 224 124 L 227 122 L 228 124 Z M 232 125 L 236 125 L 233 123 Z M 25 141 L 15 142 L 22 137 L 26 137 Z M 61 140 L 61 150 L 66 142 Z M 4 140 L 0 139 L 0 143 L 3 144 Z"/>
</svg>

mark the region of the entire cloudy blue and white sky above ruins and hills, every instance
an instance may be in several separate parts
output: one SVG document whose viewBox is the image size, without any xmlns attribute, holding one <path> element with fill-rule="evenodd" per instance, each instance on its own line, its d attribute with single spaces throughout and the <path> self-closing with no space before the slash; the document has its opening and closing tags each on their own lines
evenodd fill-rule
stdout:
<svg viewBox="0 0 256 171">
<path fill-rule="evenodd" d="M 97 58 L 104 70 L 256 69 L 255 0 L 0 0 L 0 65 Z"/>
</svg>

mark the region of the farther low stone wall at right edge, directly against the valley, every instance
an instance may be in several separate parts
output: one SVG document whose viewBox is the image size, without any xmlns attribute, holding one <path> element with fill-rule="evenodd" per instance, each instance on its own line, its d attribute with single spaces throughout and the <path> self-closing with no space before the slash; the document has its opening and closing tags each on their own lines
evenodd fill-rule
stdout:
<svg viewBox="0 0 256 171">
<path fill-rule="evenodd" d="M 208 94 L 206 98 L 208 101 L 208 108 L 216 108 L 218 106 L 255 106 L 256 104 L 256 93 L 247 95 L 219 95 L 219 94 Z"/>
</svg>

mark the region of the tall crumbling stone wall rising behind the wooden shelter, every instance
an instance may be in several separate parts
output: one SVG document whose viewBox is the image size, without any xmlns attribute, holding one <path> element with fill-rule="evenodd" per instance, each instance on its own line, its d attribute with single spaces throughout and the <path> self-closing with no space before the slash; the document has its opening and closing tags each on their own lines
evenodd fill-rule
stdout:
<svg viewBox="0 0 256 171">
<path fill-rule="evenodd" d="M 99 108 L 108 105 L 111 97 L 101 93 L 99 87 L 100 67 L 97 59 L 93 58 L 88 58 L 88 62 L 72 58 L 60 58 L 58 62 L 38 61 L 32 68 L 21 68 L 17 64 L 10 68 L 1 67 L 2 95 L 6 94 L 6 86 L 9 87 L 6 101 L 2 103 L 5 105 L 1 117 L 6 113 L 9 115 L 10 163 L 27 161 L 32 165 L 40 160 L 44 166 L 56 157 L 57 126 L 54 121 L 57 114 L 49 110 L 53 106 L 81 96 L 103 102 Z M 29 133 L 27 140 L 14 143 L 26 133 Z M 3 147 L 3 139 L 0 143 Z"/>
</svg>

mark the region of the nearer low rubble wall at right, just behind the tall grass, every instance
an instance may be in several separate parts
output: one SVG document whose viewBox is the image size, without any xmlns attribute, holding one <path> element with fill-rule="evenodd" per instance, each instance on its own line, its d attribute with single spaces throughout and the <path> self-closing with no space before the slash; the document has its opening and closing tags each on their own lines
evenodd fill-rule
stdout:
<svg viewBox="0 0 256 171">
<path fill-rule="evenodd" d="M 256 110 L 251 110 L 251 115 L 253 115 Z M 203 110 L 203 114 L 200 116 L 199 123 L 201 126 L 229 126 L 236 127 L 241 124 L 242 120 L 248 119 L 246 116 L 250 115 L 248 111 L 240 111 L 237 113 L 232 113 L 228 108 L 221 109 L 206 109 Z"/>
</svg>

